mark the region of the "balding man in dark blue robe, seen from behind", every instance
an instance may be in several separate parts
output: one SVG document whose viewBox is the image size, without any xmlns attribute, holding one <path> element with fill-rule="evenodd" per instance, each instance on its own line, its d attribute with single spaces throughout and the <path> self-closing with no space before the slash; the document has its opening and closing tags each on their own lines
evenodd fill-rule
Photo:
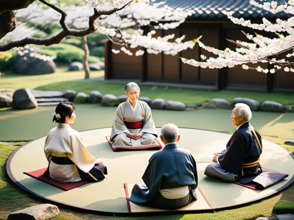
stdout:
<svg viewBox="0 0 294 220">
<path fill-rule="evenodd" d="M 163 150 L 154 153 L 143 174 L 144 184 L 135 184 L 130 201 L 147 207 L 174 210 L 197 200 L 198 176 L 191 151 L 179 148 L 178 127 L 161 128 Z"/>
</svg>

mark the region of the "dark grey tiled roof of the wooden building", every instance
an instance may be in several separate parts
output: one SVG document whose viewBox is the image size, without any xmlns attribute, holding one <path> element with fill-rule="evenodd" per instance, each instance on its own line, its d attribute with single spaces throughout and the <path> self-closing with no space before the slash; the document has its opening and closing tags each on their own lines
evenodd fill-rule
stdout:
<svg viewBox="0 0 294 220">
<path fill-rule="evenodd" d="M 161 2 L 164 0 L 157 0 L 155 2 Z M 264 9 L 253 6 L 249 3 L 250 0 L 165 0 L 166 5 L 173 8 L 196 8 L 196 13 L 190 18 L 198 18 L 201 20 L 227 20 L 227 16 L 221 11 L 235 11 L 233 14 L 236 18 L 248 18 L 248 19 L 287 19 L 293 15 L 286 14 L 285 12 L 279 12 L 273 14 Z M 258 0 L 256 0 L 259 2 Z M 267 0 L 271 1 L 271 0 Z M 263 4 L 264 2 L 259 2 Z M 276 0 L 278 5 L 284 4 L 284 0 Z"/>
</svg>

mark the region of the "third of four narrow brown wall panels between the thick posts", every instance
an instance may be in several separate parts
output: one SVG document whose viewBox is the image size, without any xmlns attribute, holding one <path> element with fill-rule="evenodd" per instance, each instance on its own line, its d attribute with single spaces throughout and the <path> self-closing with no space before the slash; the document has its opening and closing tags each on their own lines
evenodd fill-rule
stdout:
<svg viewBox="0 0 294 220">
<path fill-rule="evenodd" d="M 182 34 L 186 35 L 184 41 L 193 40 L 199 37 L 197 29 L 182 29 Z M 188 48 L 182 51 L 182 57 L 190 60 L 199 59 L 199 46 L 198 43 L 195 44 L 193 49 Z M 182 63 L 182 80 L 183 83 L 193 84 L 198 83 L 198 69 L 200 67 L 195 67 L 186 63 Z"/>
</svg>

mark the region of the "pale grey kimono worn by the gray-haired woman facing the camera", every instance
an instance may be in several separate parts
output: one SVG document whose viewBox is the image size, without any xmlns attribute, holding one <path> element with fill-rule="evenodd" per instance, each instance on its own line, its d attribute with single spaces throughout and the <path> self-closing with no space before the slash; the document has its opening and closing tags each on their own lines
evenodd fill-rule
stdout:
<svg viewBox="0 0 294 220">
<path fill-rule="evenodd" d="M 143 121 L 143 128 L 130 129 L 127 128 L 124 122 L 136 123 Z M 130 133 L 144 132 L 143 136 L 137 140 L 126 136 L 124 132 Z M 154 121 L 151 115 L 151 109 L 144 101 L 137 100 L 135 107 L 127 100 L 116 109 L 116 118 L 112 125 L 110 141 L 112 147 L 126 146 L 126 147 L 143 147 L 158 145 L 155 137 L 157 132 Z"/>
</svg>

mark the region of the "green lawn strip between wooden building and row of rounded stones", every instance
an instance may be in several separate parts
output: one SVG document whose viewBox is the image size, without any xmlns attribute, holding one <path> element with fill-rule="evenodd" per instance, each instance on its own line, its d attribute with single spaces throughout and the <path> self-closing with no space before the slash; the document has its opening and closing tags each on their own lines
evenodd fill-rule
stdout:
<svg viewBox="0 0 294 220">
<path fill-rule="evenodd" d="M 54 82 L 51 84 L 41 85 L 36 87 L 40 90 L 61 90 L 74 89 L 78 92 L 89 94 L 93 90 L 98 90 L 103 94 L 123 95 L 125 84 L 108 83 L 106 81 L 98 81 L 95 79 L 89 80 L 72 80 L 68 82 Z M 169 87 L 158 87 L 155 90 L 150 90 L 151 86 L 140 86 L 141 96 L 147 96 L 151 99 L 163 98 L 165 100 L 182 101 L 185 104 L 203 104 L 213 98 L 227 99 L 233 101 L 235 97 L 247 97 L 256 99 L 260 102 L 270 100 L 277 101 L 282 104 L 294 104 L 294 93 L 266 93 L 266 92 L 250 92 L 250 91 L 206 91 L 196 89 L 184 89 Z"/>
</svg>

